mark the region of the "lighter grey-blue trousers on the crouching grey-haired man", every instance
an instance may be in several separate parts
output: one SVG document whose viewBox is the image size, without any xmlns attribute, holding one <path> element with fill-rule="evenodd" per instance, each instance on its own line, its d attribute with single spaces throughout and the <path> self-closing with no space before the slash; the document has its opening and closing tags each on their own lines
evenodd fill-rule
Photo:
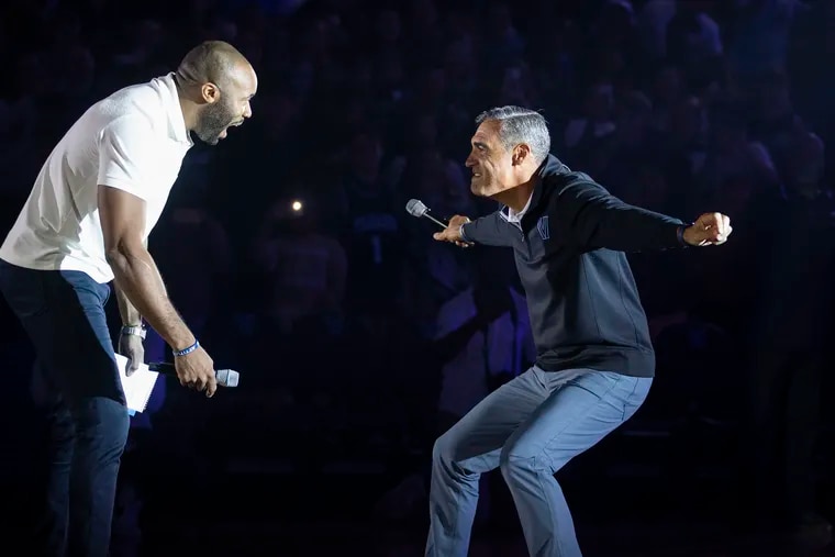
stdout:
<svg viewBox="0 0 835 557">
<path fill-rule="evenodd" d="M 628 420 L 652 382 L 533 367 L 485 398 L 435 442 L 426 557 L 467 556 L 479 477 L 496 468 L 513 495 L 530 555 L 580 557 L 554 474 Z"/>
</svg>

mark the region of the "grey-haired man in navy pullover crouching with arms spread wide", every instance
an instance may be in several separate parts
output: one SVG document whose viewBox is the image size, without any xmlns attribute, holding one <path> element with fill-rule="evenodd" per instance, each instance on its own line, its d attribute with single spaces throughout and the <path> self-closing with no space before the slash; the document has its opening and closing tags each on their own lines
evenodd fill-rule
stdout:
<svg viewBox="0 0 835 557">
<path fill-rule="evenodd" d="M 467 555 L 479 476 L 501 468 L 530 554 L 578 557 L 554 474 L 630 419 L 655 374 L 624 252 L 722 244 L 730 219 L 705 213 L 688 225 L 623 203 L 549 155 L 537 112 L 497 108 L 476 123 L 470 189 L 503 208 L 472 222 L 456 215 L 434 237 L 513 248 L 537 359 L 435 443 L 426 556 Z"/>
</svg>

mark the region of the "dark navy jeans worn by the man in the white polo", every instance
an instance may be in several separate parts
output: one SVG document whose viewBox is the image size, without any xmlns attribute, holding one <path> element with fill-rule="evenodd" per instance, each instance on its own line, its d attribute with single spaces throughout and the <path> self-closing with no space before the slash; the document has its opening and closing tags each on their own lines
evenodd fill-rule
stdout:
<svg viewBox="0 0 835 557">
<path fill-rule="evenodd" d="M 0 260 L 0 291 L 35 347 L 49 391 L 44 547 L 36 553 L 105 557 L 130 425 L 104 314 L 110 287 L 79 271 Z"/>
</svg>

